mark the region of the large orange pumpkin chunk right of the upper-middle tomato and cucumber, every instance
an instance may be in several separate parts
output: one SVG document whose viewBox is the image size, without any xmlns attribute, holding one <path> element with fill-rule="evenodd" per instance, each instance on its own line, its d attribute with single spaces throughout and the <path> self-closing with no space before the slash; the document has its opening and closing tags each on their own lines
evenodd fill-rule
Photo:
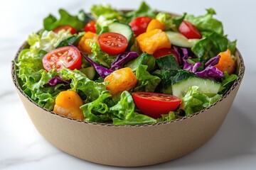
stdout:
<svg viewBox="0 0 256 170">
<path fill-rule="evenodd" d="M 171 42 L 166 33 L 160 29 L 149 30 L 149 32 L 142 33 L 136 39 L 140 50 L 149 54 L 153 54 L 161 48 L 171 47 Z"/>
</svg>

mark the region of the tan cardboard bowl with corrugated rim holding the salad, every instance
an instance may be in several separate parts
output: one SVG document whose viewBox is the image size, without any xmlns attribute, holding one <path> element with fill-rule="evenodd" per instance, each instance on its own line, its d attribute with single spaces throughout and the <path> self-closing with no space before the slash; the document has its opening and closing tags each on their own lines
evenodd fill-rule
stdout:
<svg viewBox="0 0 256 170">
<path fill-rule="evenodd" d="M 27 47 L 26 42 L 18 50 Z M 12 64 L 12 78 L 33 124 L 55 147 L 90 162 L 146 166 L 182 157 L 208 142 L 223 123 L 245 72 L 240 52 L 238 79 L 217 103 L 190 117 L 151 125 L 110 125 L 72 120 L 47 111 L 23 93 Z"/>
</svg>

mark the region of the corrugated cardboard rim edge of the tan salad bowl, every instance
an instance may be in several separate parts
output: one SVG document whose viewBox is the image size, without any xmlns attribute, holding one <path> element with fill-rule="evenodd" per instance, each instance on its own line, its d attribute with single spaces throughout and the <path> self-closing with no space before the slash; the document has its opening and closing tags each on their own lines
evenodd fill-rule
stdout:
<svg viewBox="0 0 256 170">
<path fill-rule="evenodd" d="M 33 101 L 27 94 L 25 94 L 25 92 L 21 89 L 20 84 L 18 84 L 18 77 L 16 76 L 17 73 L 17 66 L 15 64 L 15 62 L 18 60 L 18 55 L 20 54 L 21 50 L 25 49 L 29 47 L 28 42 L 25 41 L 23 42 L 23 44 L 21 45 L 21 47 L 18 48 L 18 51 L 16 52 L 16 55 L 14 57 L 14 60 L 11 61 L 11 77 L 12 77 L 12 81 L 14 83 L 14 85 L 16 86 L 16 89 L 18 89 L 18 91 L 26 98 L 28 99 L 28 101 L 30 101 L 31 103 L 33 103 L 35 106 L 43 109 L 44 111 L 53 114 L 53 115 L 57 115 L 60 118 L 65 118 L 71 121 L 75 121 L 78 123 L 85 123 L 85 124 L 89 124 L 89 125 L 102 125 L 102 126 L 113 126 L 113 127 L 148 127 L 148 126 L 154 126 L 154 125 L 165 125 L 165 124 L 170 124 L 170 123 L 176 123 L 179 122 L 181 120 L 186 120 L 189 118 L 193 118 L 197 115 L 203 114 L 206 111 L 208 111 L 210 108 L 213 108 L 213 106 L 217 105 L 218 103 L 220 103 L 221 101 L 223 101 L 237 86 L 239 86 L 242 82 L 242 78 L 245 74 L 245 63 L 242 59 L 242 55 L 240 53 L 240 51 L 238 50 L 238 48 L 236 48 L 235 50 L 235 57 L 237 57 L 237 68 L 236 68 L 236 72 L 238 75 L 238 79 L 236 79 L 233 83 L 233 85 L 230 87 L 230 89 L 227 91 L 227 93 L 225 95 L 223 95 L 222 98 L 220 98 L 218 101 L 216 101 L 215 103 L 213 103 L 213 105 L 204 108 L 201 111 L 198 111 L 196 113 L 193 113 L 192 115 L 189 116 L 184 116 L 183 118 L 177 118 L 175 120 L 171 120 L 171 121 L 164 121 L 164 122 L 159 122 L 159 123 L 146 123 L 146 124 L 139 124 L 139 125 L 113 125 L 110 123 L 95 123 L 95 122 L 87 122 L 87 121 L 82 121 L 82 120 L 76 120 L 73 118 L 68 118 L 65 117 L 64 115 L 58 115 L 57 113 L 54 113 L 53 111 L 48 111 L 46 108 L 43 108 L 42 106 L 39 106 L 38 103 L 36 103 L 35 101 Z"/>
</svg>

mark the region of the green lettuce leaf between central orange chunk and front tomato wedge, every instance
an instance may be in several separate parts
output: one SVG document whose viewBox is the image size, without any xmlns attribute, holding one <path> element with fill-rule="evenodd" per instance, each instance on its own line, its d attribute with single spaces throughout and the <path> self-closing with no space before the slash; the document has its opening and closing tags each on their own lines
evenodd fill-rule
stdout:
<svg viewBox="0 0 256 170">
<path fill-rule="evenodd" d="M 134 91 L 150 91 L 154 92 L 156 86 L 159 85 L 161 79 L 157 76 L 151 75 L 146 71 L 147 66 L 140 64 L 136 70 L 136 77 L 138 79 Z"/>
</svg>

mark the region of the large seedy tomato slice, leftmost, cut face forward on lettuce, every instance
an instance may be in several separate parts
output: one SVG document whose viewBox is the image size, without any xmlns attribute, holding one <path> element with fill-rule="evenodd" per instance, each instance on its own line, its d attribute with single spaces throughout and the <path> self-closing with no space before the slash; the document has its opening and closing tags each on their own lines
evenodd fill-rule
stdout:
<svg viewBox="0 0 256 170">
<path fill-rule="evenodd" d="M 53 68 L 59 71 L 62 67 L 81 69 L 82 57 L 75 47 L 60 47 L 48 52 L 43 57 L 43 67 L 46 71 Z"/>
</svg>

